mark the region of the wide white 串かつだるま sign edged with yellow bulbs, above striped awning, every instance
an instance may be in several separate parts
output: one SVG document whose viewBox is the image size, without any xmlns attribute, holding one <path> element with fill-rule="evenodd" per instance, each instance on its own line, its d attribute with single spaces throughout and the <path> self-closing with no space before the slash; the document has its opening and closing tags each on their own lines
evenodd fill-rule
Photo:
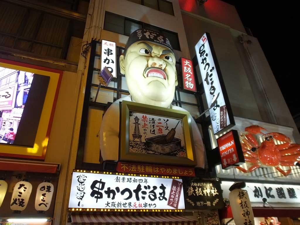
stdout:
<svg viewBox="0 0 300 225">
<path fill-rule="evenodd" d="M 182 180 L 73 172 L 69 208 L 184 209 Z"/>
</svg>

